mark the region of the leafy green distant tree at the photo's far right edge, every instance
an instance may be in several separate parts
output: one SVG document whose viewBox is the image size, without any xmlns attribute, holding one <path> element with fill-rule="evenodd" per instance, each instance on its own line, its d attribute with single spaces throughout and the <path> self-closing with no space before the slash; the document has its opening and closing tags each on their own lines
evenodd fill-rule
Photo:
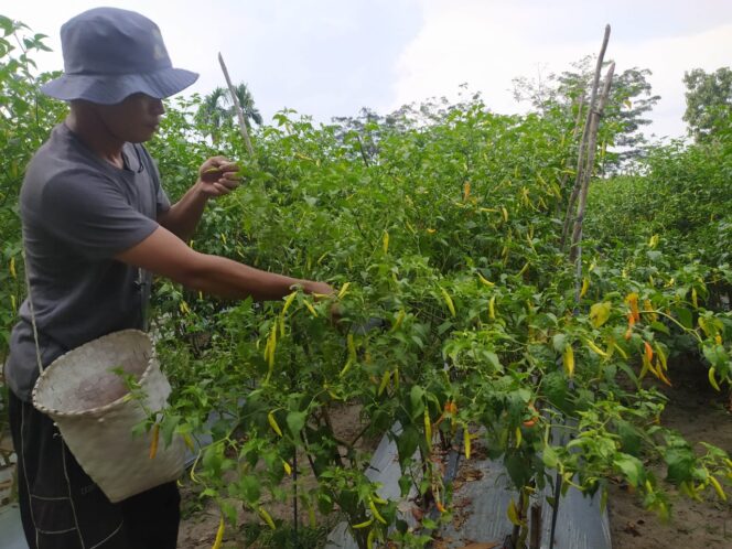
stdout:
<svg viewBox="0 0 732 549">
<path fill-rule="evenodd" d="M 730 67 L 706 73 L 701 68 L 683 73 L 687 109 L 683 120 L 689 134 L 703 141 L 732 116 L 732 71 Z"/>
</svg>

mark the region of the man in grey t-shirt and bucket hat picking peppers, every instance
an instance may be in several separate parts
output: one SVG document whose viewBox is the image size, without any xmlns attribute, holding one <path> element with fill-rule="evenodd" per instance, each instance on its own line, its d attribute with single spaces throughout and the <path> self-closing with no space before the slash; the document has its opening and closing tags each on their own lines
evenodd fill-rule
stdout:
<svg viewBox="0 0 732 549">
<path fill-rule="evenodd" d="M 99 8 L 68 21 L 61 36 L 65 74 L 43 92 L 69 101 L 71 111 L 36 152 L 23 182 L 30 293 L 6 365 L 23 528 L 33 549 L 174 548 L 175 483 L 109 503 L 52 420 L 30 403 L 36 363 L 46 366 L 96 337 L 142 327 L 149 273 L 232 299 L 277 300 L 293 286 L 317 293 L 332 288 L 198 254 L 184 244 L 206 202 L 239 181 L 235 164 L 211 158 L 185 196 L 170 205 L 139 143 L 158 128 L 161 99 L 197 75 L 172 67 L 152 21 Z"/>
</svg>

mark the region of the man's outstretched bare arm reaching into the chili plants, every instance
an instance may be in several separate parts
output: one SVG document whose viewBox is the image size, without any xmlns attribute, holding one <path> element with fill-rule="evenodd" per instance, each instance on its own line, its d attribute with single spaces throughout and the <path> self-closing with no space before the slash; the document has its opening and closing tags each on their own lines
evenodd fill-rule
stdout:
<svg viewBox="0 0 732 549">
<path fill-rule="evenodd" d="M 332 293 L 324 282 L 262 271 L 218 256 L 200 254 L 164 227 L 115 256 L 125 263 L 170 278 L 192 290 L 229 299 L 278 300 L 295 284 L 310 293 Z"/>
</svg>

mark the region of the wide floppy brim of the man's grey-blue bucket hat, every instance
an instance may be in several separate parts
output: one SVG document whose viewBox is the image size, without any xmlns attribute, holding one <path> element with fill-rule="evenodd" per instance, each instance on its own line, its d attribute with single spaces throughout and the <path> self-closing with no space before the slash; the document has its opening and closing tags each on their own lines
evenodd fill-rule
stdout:
<svg viewBox="0 0 732 549">
<path fill-rule="evenodd" d="M 146 74 L 64 74 L 41 86 L 41 92 L 65 101 L 85 99 L 115 105 L 132 94 L 146 94 L 158 99 L 170 97 L 197 79 L 197 73 L 183 68 L 163 68 Z"/>
</svg>

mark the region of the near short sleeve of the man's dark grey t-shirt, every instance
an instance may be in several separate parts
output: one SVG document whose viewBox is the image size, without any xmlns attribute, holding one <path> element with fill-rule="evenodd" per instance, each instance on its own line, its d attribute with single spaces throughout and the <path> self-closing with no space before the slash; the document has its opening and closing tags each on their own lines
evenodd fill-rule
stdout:
<svg viewBox="0 0 732 549">
<path fill-rule="evenodd" d="M 112 257 L 158 228 L 154 219 L 130 206 L 111 181 L 92 170 L 57 174 L 40 198 L 42 223 L 90 259 Z"/>
</svg>

